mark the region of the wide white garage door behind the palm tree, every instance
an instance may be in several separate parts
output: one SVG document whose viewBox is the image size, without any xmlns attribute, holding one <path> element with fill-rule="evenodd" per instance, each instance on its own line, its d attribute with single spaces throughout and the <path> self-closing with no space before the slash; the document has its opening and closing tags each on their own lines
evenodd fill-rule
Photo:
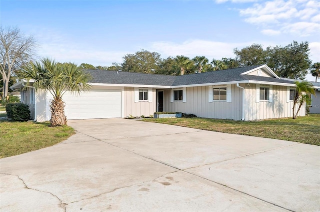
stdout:
<svg viewBox="0 0 320 212">
<path fill-rule="evenodd" d="M 66 92 L 63 101 L 68 120 L 121 117 L 121 90 L 91 89 L 80 95 Z"/>
</svg>

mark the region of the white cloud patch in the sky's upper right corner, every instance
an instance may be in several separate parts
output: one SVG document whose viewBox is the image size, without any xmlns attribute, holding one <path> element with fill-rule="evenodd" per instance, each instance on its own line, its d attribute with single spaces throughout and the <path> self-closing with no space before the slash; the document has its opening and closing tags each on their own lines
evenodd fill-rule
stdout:
<svg viewBox="0 0 320 212">
<path fill-rule="evenodd" d="M 269 0 L 239 9 L 244 20 L 262 28 L 264 34 L 276 31 L 301 37 L 318 34 L 319 13 L 320 2 L 314 0 Z"/>
</svg>

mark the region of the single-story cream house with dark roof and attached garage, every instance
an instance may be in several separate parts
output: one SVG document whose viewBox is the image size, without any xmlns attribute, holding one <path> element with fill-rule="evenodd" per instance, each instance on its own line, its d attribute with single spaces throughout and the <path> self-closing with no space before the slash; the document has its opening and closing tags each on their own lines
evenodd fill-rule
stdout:
<svg viewBox="0 0 320 212">
<path fill-rule="evenodd" d="M 266 65 L 180 76 L 86 71 L 92 75 L 91 90 L 63 96 L 67 119 L 140 117 L 156 111 L 245 121 L 292 116 L 294 82 L 280 79 Z M 30 105 L 34 120 L 50 119 L 48 92 L 27 87 L 21 100 Z M 303 106 L 298 116 L 304 115 Z"/>
</svg>

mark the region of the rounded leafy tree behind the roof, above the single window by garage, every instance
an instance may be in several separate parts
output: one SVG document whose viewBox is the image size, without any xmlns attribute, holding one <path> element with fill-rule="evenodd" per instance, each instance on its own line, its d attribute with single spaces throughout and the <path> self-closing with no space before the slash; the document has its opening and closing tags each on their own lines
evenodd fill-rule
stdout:
<svg viewBox="0 0 320 212">
<path fill-rule="evenodd" d="M 161 62 L 160 54 L 144 49 L 123 57 L 122 71 L 154 73 Z"/>
</svg>

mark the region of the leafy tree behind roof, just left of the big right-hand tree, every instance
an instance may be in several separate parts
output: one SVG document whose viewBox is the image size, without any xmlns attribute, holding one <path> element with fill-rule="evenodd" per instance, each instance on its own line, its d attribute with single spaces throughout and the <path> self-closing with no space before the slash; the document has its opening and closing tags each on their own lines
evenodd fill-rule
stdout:
<svg viewBox="0 0 320 212">
<path fill-rule="evenodd" d="M 265 51 L 260 44 L 253 43 L 241 50 L 234 48 L 233 53 L 240 66 L 262 65 L 265 63 Z"/>
</svg>

